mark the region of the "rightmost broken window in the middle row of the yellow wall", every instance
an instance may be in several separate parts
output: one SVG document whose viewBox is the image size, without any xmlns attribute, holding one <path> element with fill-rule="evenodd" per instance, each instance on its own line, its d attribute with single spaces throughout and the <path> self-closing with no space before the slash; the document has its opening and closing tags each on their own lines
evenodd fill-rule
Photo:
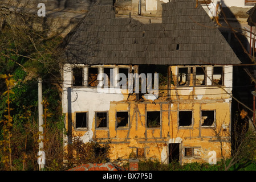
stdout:
<svg viewBox="0 0 256 182">
<path fill-rule="evenodd" d="M 216 110 L 201 110 L 201 127 L 216 126 Z"/>
</svg>

